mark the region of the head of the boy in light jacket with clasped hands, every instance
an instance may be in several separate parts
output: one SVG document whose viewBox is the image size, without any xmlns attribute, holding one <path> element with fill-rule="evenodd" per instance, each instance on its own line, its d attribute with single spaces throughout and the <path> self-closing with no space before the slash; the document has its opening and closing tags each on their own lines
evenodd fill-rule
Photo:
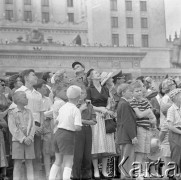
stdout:
<svg viewBox="0 0 181 180">
<path fill-rule="evenodd" d="M 16 105 L 26 106 L 28 104 L 28 99 L 24 91 L 17 91 L 13 95 L 13 101 Z"/>
</svg>

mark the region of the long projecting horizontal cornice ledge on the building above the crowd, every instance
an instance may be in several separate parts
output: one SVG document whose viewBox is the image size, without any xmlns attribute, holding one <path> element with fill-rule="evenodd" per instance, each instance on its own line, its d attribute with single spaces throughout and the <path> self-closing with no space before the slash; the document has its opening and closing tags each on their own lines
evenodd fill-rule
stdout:
<svg viewBox="0 0 181 180">
<path fill-rule="evenodd" d="M 108 52 L 106 49 L 105 51 L 99 51 L 99 49 L 95 49 L 95 51 L 90 51 L 90 49 L 69 49 L 69 48 L 57 48 L 56 50 L 54 50 L 53 48 L 51 49 L 46 49 L 43 50 L 43 46 L 39 46 L 41 47 L 39 51 L 34 50 L 35 46 L 29 46 L 28 49 L 13 49 L 13 48 L 9 48 L 9 49 L 0 49 L 0 53 L 1 55 L 21 55 L 21 56 L 34 56 L 36 54 L 36 56 L 40 57 L 40 56 L 48 56 L 48 57 L 56 57 L 56 56 L 73 56 L 73 57 L 86 57 L 86 58 L 92 58 L 92 57 L 96 57 L 97 59 L 99 58 L 105 58 L 107 60 L 117 60 L 117 58 L 119 58 L 120 60 L 133 60 L 135 61 L 135 63 L 137 61 L 141 61 L 145 55 L 146 52 Z"/>
</svg>

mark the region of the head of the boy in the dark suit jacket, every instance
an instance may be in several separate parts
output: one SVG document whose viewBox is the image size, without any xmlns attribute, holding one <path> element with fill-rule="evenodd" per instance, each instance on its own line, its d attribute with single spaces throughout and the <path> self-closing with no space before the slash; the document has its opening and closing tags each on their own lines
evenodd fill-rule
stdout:
<svg viewBox="0 0 181 180">
<path fill-rule="evenodd" d="M 133 97 L 133 89 L 130 84 L 123 83 L 118 86 L 117 94 L 121 95 L 126 99 L 132 99 Z"/>
</svg>

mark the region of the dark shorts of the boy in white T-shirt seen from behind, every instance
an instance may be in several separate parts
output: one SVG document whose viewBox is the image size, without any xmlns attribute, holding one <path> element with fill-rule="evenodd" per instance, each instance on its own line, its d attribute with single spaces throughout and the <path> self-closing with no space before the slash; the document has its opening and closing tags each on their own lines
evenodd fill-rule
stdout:
<svg viewBox="0 0 181 180">
<path fill-rule="evenodd" d="M 62 155 L 73 155 L 75 144 L 75 132 L 58 129 L 55 133 L 54 148 L 56 153 Z"/>
</svg>

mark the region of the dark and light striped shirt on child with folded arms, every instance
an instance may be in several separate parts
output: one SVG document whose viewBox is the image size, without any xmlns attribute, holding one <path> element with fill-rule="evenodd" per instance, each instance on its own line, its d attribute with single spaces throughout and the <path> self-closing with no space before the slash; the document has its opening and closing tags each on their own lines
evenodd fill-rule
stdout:
<svg viewBox="0 0 181 180">
<path fill-rule="evenodd" d="M 131 107 L 138 108 L 140 111 L 145 111 L 147 109 L 151 109 L 151 105 L 146 99 L 142 99 L 141 101 L 137 101 L 135 98 L 130 102 Z M 143 127 L 145 129 L 150 128 L 150 122 L 149 118 L 143 117 L 143 118 L 137 118 L 136 120 L 137 126 Z"/>
</svg>

